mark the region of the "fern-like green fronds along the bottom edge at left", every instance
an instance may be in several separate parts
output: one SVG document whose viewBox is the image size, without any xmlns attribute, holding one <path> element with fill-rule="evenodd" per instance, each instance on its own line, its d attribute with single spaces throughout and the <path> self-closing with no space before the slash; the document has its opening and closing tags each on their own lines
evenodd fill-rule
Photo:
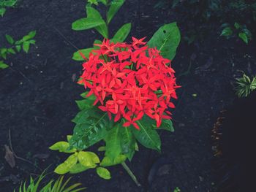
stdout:
<svg viewBox="0 0 256 192">
<path fill-rule="evenodd" d="M 17 192 L 78 192 L 83 191 L 86 188 L 78 188 L 80 183 L 74 185 L 68 185 L 71 177 L 64 182 L 64 176 L 59 177 L 58 180 L 50 180 L 46 185 L 42 185 L 42 180 L 45 178 L 45 174 L 42 173 L 36 180 L 30 177 L 29 185 L 26 182 L 20 184 L 20 188 Z M 16 190 L 14 190 L 16 192 Z"/>
</svg>

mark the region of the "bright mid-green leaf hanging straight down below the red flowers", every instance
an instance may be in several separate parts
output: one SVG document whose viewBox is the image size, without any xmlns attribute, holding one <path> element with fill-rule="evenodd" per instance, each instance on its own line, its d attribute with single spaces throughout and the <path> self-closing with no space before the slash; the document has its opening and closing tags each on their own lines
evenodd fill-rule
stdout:
<svg viewBox="0 0 256 192">
<path fill-rule="evenodd" d="M 112 161 L 121 154 L 121 134 L 120 130 L 124 128 L 121 123 L 117 123 L 116 126 L 108 131 L 108 135 L 105 137 L 106 142 L 106 152 L 105 155 L 108 156 Z"/>
</svg>

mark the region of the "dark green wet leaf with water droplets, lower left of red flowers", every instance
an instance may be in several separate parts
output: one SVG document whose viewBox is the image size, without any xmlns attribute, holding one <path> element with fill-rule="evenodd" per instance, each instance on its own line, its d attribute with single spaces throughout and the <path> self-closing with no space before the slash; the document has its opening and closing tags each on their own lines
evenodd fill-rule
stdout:
<svg viewBox="0 0 256 192">
<path fill-rule="evenodd" d="M 107 129 L 112 127 L 107 113 L 97 107 L 79 112 L 72 121 L 77 125 L 69 144 L 78 150 L 86 149 L 102 140 L 107 134 Z"/>
</svg>

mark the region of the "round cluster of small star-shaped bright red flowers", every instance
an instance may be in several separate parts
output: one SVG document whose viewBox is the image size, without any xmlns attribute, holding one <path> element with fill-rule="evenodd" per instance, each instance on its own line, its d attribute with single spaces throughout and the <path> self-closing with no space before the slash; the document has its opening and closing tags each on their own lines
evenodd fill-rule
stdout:
<svg viewBox="0 0 256 192">
<path fill-rule="evenodd" d="M 167 107 L 174 108 L 171 98 L 177 99 L 176 78 L 170 60 L 159 51 L 148 48 L 143 39 L 132 37 L 132 44 L 113 43 L 105 39 L 99 50 L 93 50 L 83 63 L 83 83 L 94 94 L 99 109 L 108 112 L 109 118 L 127 120 L 123 126 L 135 126 L 136 120 L 148 115 L 161 125 L 170 118 Z M 82 54 L 81 54 L 82 55 Z M 82 55 L 83 56 L 83 55 Z M 83 56 L 83 58 L 85 58 Z"/>
</svg>

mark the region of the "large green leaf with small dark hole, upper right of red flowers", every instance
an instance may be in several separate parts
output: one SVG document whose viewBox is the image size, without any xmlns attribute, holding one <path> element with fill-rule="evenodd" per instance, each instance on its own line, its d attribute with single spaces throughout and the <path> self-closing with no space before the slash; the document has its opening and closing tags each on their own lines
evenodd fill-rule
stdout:
<svg viewBox="0 0 256 192">
<path fill-rule="evenodd" d="M 148 41 L 148 47 L 157 47 L 164 58 L 172 60 L 181 41 L 181 34 L 176 23 L 160 27 Z"/>
</svg>

